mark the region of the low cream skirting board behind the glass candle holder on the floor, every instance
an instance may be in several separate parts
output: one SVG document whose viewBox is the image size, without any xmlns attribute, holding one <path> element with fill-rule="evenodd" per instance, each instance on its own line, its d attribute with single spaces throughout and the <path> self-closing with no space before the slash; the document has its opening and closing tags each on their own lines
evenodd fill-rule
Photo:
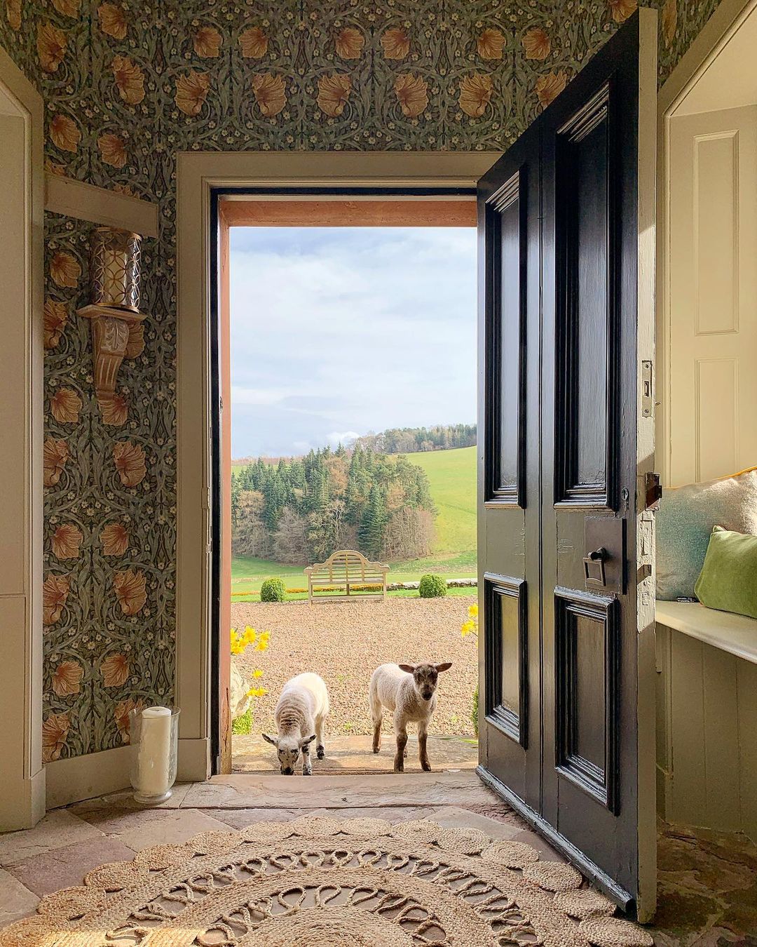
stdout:
<svg viewBox="0 0 757 947">
<path fill-rule="evenodd" d="M 117 746 L 83 757 L 56 759 L 44 767 L 46 808 L 57 809 L 97 795 L 129 789 L 132 747 Z M 179 782 L 202 782 L 210 775 L 210 741 L 180 740 Z"/>
</svg>

